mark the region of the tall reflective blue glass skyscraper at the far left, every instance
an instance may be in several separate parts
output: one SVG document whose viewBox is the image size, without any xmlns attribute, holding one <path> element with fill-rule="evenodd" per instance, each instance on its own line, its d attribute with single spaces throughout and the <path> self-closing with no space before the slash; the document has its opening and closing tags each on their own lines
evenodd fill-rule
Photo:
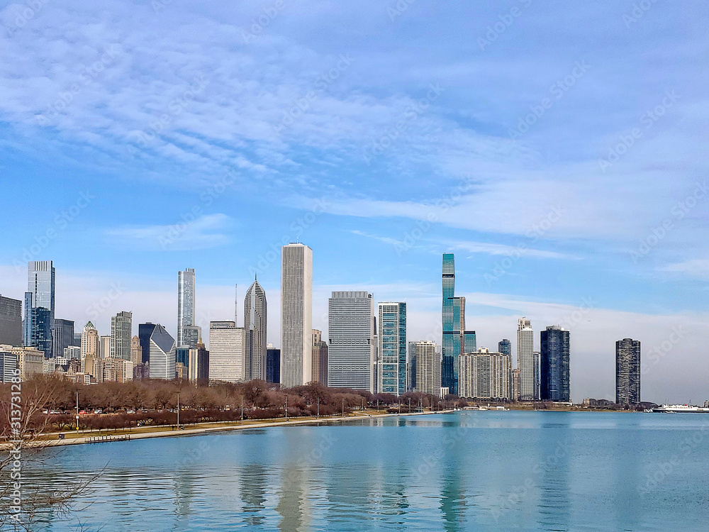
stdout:
<svg viewBox="0 0 709 532">
<path fill-rule="evenodd" d="M 51 260 L 28 262 L 24 344 L 44 351 L 45 358 L 52 358 L 55 277 Z"/>
</svg>

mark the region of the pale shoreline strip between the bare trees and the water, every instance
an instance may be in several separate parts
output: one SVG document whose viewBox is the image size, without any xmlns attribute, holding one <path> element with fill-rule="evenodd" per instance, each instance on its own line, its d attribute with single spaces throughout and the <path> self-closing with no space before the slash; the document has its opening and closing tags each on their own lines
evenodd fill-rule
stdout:
<svg viewBox="0 0 709 532">
<path fill-rule="evenodd" d="M 234 425 L 226 426 L 203 426 L 194 428 L 185 428 L 184 430 L 167 430 L 169 426 L 156 427 L 155 431 L 146 432 L 131 432 L 131 431 L 118 431 L 114 433 L 94 433 L 87 436 L 74 436 L 74 438 L 65 438 L 63 440 L 58 439 L 60 433 L 47 433 L 45 436 L 52 437 L 56 436 L 57 439 L 39 439 L 35 440 L 30 444 L 33 448 L 52 448 L 60 447 L 62 445 L 84 445 L 89 443 L 109 443 L 117 441 L 133 441 L 133 440 L 143 440 L 146 438 L 179 438 L 180 436 L 198 436 L 200 434 L 208 434 L 215 432 L 225 432 L 225 431 L 240 431 L 249 428 L 268 428 L 268 427 L 279 427 L 279 426 L 296 426 L 296 425 L 313 425 L 317 423 L 333 423 L 335 421 L 357 421 L 362 419 L 378 419 L 378 418 L 388 418 L 393 416 L 428 416 L 430 414 L 451 414 L 454 410 L 438 410 L 438 411 L 425 411 L 425 412 L 411 412 L 403 414 L 355 414 L 354 416 L 347 416 L 343 418 L 342 416 L 329 416 L 320 418 L 307 417 L 301 418 L 291 418 L 289 421 L 250 421 L 247 420 L 244 423 L 235 422 Z M 208 423 L 213 425 L 213 423 Z M 74 435 L 72 431 L 65 431 L 62 434 L 67 436 Z M 3 443 L 0 445 L 0 450 L 6 450 L 8 443 Z"/>
</svg>

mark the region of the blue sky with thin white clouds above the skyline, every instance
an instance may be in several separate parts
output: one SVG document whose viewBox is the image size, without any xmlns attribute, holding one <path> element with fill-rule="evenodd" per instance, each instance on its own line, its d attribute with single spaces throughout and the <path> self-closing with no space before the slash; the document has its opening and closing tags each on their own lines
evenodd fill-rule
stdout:
<svg viewBox="0 0 709 532">
<path fill-rule="evenodd" d="M 330 290 L 369 289 L 418 340 L 452 251 L 479 345 L 566 323 L 580 400 L 612 396 L 632 336 L 657 348 L 644 397 L 708 399 L 709 8 L 635 5 L 9 4 L 0 293 L 52 259 L 60 317 L 174 331 L 177 270 L 204 323 L 258 270 L 277 344 L 269 250 L 298 238 L 314 326 Z"/>
</svg>

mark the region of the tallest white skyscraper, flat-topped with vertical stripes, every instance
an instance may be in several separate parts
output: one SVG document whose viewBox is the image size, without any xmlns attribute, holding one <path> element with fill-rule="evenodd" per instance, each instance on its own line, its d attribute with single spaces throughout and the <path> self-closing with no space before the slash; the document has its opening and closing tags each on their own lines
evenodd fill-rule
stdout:
<svg viewBox="0 0 709 532">
<path fill-rule="evenodd" d="M 281 387 L 301 386 L 313 379 L 312 329 L 313 250 L 300 243 L 284 245 L 281 248 Z"/>
</svg>

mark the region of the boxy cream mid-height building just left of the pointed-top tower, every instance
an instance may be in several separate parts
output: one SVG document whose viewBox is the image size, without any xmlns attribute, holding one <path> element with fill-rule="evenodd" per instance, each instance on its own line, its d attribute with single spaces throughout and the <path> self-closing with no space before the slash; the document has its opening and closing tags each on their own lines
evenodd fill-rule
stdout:
<svg viewBox="0 0 709 532">
<path fill-rule="evenodd" d="M 244 329 L 233 321 L 209 323 L 209 379 L 240 382 L 244 379 Z"/>
</svg>

